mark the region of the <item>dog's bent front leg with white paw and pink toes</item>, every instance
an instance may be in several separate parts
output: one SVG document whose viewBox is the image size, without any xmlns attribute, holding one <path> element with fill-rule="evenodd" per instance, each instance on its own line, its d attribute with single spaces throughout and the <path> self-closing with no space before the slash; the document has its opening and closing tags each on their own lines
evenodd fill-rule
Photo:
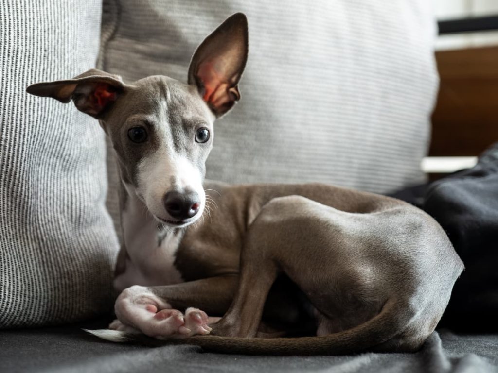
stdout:
<svg viewBox="0 0 498 373">
<path fill-rule="evenodd" d="M 128 287 L 116 300 L 119 322 L 110 327 L 133 328 L 161 339 L 209 334 L 208 323 L 219 317 L 208 317 L 206 312 L 222 316 L 232 302 L 237 284 L 238 277 L 228 275 L 167 286 Z"/>
</svg>

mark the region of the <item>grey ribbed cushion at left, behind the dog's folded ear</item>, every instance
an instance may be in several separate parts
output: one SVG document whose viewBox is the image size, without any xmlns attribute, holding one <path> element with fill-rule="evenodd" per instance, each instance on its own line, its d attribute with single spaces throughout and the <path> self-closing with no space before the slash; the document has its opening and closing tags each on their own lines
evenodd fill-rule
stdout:
<svg viewBox="0 0 498 373">
<path fill-rule="evenodd" d="M 0 3 L 0 328 L 112 306 L 103 131 L 72 104 L 25 93 L 95 66 L 101 9 L 99 0 Z"/>
</svg>

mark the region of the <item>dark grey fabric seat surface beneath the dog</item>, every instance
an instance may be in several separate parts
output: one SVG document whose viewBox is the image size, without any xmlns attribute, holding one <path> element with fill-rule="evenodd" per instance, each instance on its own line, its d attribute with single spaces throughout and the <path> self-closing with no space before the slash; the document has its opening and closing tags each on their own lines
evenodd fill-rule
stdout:
<svg viewBox="0 0 498 373">
<path fill-rule="evenodd" d="M 86 334 L 82 326 L 0 332 L 0 372 L 498 372 L 496 335 L 435 332 L 415 354 L 262 357 L 116 344 Z"/>
</svg>

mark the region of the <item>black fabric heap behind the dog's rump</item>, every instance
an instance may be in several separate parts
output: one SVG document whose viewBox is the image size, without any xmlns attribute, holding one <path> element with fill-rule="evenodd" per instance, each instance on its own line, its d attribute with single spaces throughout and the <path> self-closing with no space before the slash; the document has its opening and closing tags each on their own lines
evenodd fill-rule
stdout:
<svg viewBox="0 0 498 373">
<path fill-rule="evenodd" d="M 418 205 L 444 228 L 465 264 L 440 325 L 498 331 L 498 143 L 478 164 L 393 196 Z"/>
</svg>

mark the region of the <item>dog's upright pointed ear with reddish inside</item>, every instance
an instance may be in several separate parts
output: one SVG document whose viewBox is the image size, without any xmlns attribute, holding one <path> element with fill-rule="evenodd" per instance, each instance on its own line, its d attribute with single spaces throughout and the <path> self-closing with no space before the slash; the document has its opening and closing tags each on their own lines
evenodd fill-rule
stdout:
<svg viewBox="0 0 498 373">
<path fill-rule="evenodd" d="M 216 116 L 226 113 L 241 98 L 237 84 L 248 57 L 248 21 L 243 13 L 228 17 L 197 48 L 190 62 L 188 83 Z"/>
</svg>

